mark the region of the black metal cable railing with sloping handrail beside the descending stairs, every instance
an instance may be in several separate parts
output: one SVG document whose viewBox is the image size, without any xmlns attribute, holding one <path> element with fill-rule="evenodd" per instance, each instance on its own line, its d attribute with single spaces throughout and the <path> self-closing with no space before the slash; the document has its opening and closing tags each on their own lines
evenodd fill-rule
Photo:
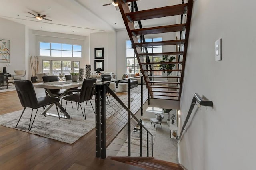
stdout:
<svg viewBox="0 0 256 170">
<path fill-rule="evenodd" d="M 95 84 L 96 157 L 153 156 L 153 135 L 134 114 L 142 114 L 148 90 L 146 85 L 134 87 L 132 78 L 121 79 L 127 81 L 127 95 L 110 89 L 114 81 Z"/>
</svg>

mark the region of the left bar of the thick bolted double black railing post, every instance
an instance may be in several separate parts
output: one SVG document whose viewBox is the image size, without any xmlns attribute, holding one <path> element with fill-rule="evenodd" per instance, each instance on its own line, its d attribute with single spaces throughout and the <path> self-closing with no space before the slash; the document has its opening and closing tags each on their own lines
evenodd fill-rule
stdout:
<svg viewBox="0 0 256 170">
<path fill-rule="evenodd" d="M 96 157 L 100 157 L 100 85 L 95 85 L 95 140 Z"/>
</svg>

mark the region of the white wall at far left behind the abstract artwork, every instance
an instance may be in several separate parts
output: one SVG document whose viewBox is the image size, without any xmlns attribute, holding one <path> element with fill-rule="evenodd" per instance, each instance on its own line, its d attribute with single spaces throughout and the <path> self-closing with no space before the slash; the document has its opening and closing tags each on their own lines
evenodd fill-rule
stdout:
<svg viewBox="0 0 256 170">
<path fill-rule="evenodd" d="M 0 63 L 0 71 L 3 71 L 3 67 L 11 74 L 14 74 L 13 70 L 25 70 L 25 26 L 3 18 L 0 18 L 0 23 L 0 38 L 10 40 L 10 63 Z"/>
</svg>

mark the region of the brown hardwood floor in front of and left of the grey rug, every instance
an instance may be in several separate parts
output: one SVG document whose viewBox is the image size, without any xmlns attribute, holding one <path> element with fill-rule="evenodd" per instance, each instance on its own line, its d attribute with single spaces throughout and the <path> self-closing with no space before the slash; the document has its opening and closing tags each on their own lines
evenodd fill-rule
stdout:
<svg viewBox="0 0 256 170">
<path fill-rule="evenodd" d="M 147 96 L 147 90 L 144 91 Z M 140 101 L 140 99 L 136 100 Z M 0 93 L 0 115 L 21 109 L 23 107 L 20 105 L 16 91 Z M 95 130 L 90 131 L 74 144 L 66 144 L 0 125 L 0 169 L 117 170 L 121 168 L 140 169 L 113 160 L 95 158 Z"/>
</svg>

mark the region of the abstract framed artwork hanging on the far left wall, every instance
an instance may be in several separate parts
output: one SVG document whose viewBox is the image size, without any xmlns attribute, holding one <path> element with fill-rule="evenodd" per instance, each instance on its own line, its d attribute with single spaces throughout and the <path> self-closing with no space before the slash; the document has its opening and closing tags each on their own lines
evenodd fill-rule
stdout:
<svg viewBox="0 0 256 170">
<path fill-rule="evenodd" d="M 0 39 L 0 62 L 10 63 L 10 40 Z"/>
</svg>

